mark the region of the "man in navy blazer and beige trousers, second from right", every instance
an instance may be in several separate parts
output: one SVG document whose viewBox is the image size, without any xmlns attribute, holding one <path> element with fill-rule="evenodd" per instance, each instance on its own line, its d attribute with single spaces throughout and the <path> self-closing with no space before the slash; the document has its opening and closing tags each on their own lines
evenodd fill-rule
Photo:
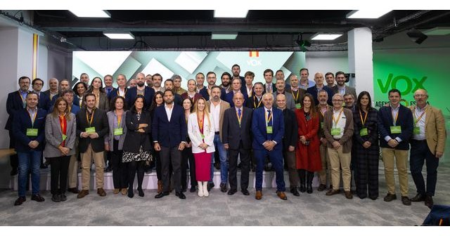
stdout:
<svg viewBox="0 0 450 236">
<path fill-rule="evenodd" d="M 408 150 L 409 139 L 413 135 L 413 114 L 400 104 L 401 95 L 398 89 L 389 91 L 390 106 L 378 110 L 378 131 L 380 133 L 380 147 L 385 164 L 385 178 L 387 195 L 385 202 L 397 199 L 395 195 L 394 163 L 399 173 L 401 202 L 409 206 L 408 197 Z"/>
</svg>

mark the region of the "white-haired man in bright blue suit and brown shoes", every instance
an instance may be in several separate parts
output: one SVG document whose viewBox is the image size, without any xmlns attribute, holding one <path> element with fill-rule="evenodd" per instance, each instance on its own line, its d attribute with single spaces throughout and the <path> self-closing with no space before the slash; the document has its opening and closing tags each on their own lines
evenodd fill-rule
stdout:
<svg viewBox="0 0 450 236">
<path fill-rule="evenodd" d="M 283 150 L 282 138 L 284 135 L 284 118 L 281 110 L 272 107 L 274 97 L 271 93 L 262 96 L 264 107 L 253 112 L 252 133 L 253 151 L 257 161 L 256 167 L 256 199 L 262 199 L 262 169 L 264 160 L 269 155 L 270 161 L 276 173 L 276 195 L 287 200 L 285 195 L 285 183 L 283 177 Z"/>
</svg>

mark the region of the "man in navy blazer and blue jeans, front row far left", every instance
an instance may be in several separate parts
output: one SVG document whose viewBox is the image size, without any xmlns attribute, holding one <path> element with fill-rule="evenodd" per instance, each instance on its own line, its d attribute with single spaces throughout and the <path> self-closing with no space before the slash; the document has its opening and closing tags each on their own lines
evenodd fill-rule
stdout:
<svg viewBox="0 0 450 236">
<path fill-rule="evenodd" d="M 30 79 L 28 79 L 30 83 Z M 12 131 L 15 138 L 15 151 L 18 154 L 18 195 L 14 205 L 25 202 L 28 173 L 31 172 L 32 197 L 37 202 L 44 202 L 39 195 L 39 166 L 44 150 L 46 110 L 39 109 L 37 93 L 30 92 L 26 96 L 26 108 L 20 108 L 14 114 Z"/>
</svg>

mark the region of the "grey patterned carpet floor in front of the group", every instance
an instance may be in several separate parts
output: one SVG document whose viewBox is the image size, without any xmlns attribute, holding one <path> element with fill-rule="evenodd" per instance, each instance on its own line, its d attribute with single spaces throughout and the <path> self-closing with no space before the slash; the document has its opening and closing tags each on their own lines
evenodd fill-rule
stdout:
<svg viewBox="0 0 450 236">
<path fill-rule="evenodd" d="M 397 178 L 397 176 L 396 176 Z M 438 169 L 435 204 L 450 204 L 450 164 Z M 397 181 L 398 185 L 398 181 Z M 416 188 L 409 176 L 410 197 Z M 275 189 L 265 188 L 263 199 L 237 192 L 233 196 L 214 189 L 210 197 L 186 192 L 186 199 L 174 195 L 155 199 L 155 190 L 145 190 L 145 197 L 130 199 L 113 195 L 99 197 L 91 190 L 84 199 L 68 193 L 67 202 L 51 202 L 49 191 L 42 191 L 45 202 L 34 202 L 27 195 L 22 206 L 13 206 L 17 192 L 0 190 L 0 225 L 420 225 L 430 209 L 423 202 L 404 206 L 401 200 L 384 202 L 386 194 L 383 171 L 380 171 L 380 197 L 346 199 L 343 194 L 326 196 L 325 192 L 303 193 L 288 200 L 276 197 Z M 399 190 L 397 187 L 397 196 Z"/>
</svg>

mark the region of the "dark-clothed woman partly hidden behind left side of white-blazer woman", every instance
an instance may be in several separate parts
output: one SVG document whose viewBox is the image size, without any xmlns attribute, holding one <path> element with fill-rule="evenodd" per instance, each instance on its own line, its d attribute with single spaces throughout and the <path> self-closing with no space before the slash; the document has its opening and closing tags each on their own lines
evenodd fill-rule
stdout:
<svg viewBox="0 0 450 236">
<path fill-rule="evenodd" d="M 188 117 L 193 110 L 193 103 L 191 98 L 184 98 L 183 100 L 184 116 L 186 117 L 186 125 L 188 124 Z M 191 192 L 195 192 L 195 186 L 197 186 L 197 181 L 195 180 L 195 160 L 192 153 L 192 142 L 191 139 L 186 137 L 186 145 L 184 150 L 181 152 L 181 187 L 185 192 L 187 190 L 187 169 L 189 162 L 189 175 L 191 176 Z"/>
</svg>

